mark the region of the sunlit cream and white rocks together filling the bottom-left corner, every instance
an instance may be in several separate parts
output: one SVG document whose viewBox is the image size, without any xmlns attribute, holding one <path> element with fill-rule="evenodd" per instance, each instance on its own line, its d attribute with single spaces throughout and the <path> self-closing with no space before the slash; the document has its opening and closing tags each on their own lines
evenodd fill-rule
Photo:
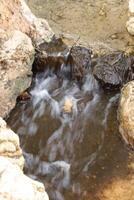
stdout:
<svg viewBox="0 0 134 200">
<path fill-rule="evenodd" d="M 19 137 L 0 117 L 0 200 L 48 200 L 43 184 L 25 176 L 23 166 Z"/>
</svg>

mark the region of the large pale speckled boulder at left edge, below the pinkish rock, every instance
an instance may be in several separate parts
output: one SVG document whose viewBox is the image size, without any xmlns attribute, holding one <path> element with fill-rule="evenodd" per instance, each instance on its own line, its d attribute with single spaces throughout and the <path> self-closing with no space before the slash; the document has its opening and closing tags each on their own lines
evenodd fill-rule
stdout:
<svg viewBox="0 0 134 200">
<path fill-rule="evenodd" d="M 5 116 L 15 105 L 16 97 L 31 82 L 27 74 L 31 71 L 34 47 L 31 39 L 20 31 L 5 35 L 0 46 L 0 115 Z"/>
</svg>

